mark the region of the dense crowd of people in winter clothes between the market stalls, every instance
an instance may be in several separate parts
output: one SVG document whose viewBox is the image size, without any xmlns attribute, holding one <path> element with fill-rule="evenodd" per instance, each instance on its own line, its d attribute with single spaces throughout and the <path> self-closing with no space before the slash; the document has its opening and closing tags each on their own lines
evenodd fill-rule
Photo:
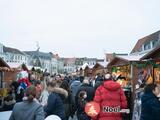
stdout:
<svg viewBox="0 0 160 120">
<path fill-rule="evenodd" d="M 159 120 L 159 85 L 146 85 L 143 91 L 139 118 L 133 120 Z M 85 112 L 86 103 L 91 101 L 100 106 L 94 117 Z M 124 91 L 110 73 L 96 77 L 47 74 L 37 80 L 25 68 L 10 84 L 3 103 L 3 111 L 12 110 L 10 120 L 49 120 L 52 115 L 55 120 L 74 120 L 75 115 L 78 120 L 122 120 L 123 113 L 110 108 L 127 108 Z"/>
</svg>

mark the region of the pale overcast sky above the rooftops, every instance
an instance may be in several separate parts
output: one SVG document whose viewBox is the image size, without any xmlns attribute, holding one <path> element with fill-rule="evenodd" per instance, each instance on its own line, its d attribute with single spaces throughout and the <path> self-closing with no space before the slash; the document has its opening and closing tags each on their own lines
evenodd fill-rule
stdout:
<svg viewBox="0 0 160 120">
<path fill-rule="evenodd" d="M 61 57 L 129 53 L 160 30 L 160 0 L 0 0 L 0 42 Z"/>
</svg>

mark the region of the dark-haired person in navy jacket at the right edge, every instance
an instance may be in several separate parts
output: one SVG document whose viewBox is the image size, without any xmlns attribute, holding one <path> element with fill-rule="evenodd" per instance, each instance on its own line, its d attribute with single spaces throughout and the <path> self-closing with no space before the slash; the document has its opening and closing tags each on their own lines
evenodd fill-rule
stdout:
<svg viewBox="0 0 160 120">
<path fill-rule="evenodd" d="M 160 120 L 160 101 L 157 96 L 160 88 L 156 84 L 149 84 L 144 89 L 140 120 Z"/>
</svg>

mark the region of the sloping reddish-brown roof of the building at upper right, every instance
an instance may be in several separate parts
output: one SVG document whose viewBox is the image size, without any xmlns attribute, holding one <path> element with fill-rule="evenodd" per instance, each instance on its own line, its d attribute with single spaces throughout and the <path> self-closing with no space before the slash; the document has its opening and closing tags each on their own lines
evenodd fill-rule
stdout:
<svg viewBox="0 0 160 120">
<path fill-rule="evenodd" d="M 134 48 L 132 49 L 131 53 L 139 52 L 141 46 L 144 43 L 147 43 L 147 42 L 152 41 L 152 40 L 158 40 L 159 39 L 159 34 L 160 34 L 160 30 L 155 32 L 155 33 L 152 33 L 152 34 L 150 34 L 146 37 L 143 37 L 143 38 L 139 39 L 138 42 L 136 43 L 136 45 L 134 46 Z"/>
</svg>

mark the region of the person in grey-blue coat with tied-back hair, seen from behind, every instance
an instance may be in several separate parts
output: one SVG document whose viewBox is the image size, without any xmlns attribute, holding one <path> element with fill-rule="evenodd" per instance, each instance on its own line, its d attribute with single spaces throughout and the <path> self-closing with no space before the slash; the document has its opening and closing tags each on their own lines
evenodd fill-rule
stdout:
<svg viewBox="0 0 160 120">
<path fill-rule="evenodd" d="M 16 103 L 9 120 L 44 120 L 43 107 L 34 99 L 36 97 L 36 88 L 30 86 L 26 89 L 27 99 Z"/>
</svg>

